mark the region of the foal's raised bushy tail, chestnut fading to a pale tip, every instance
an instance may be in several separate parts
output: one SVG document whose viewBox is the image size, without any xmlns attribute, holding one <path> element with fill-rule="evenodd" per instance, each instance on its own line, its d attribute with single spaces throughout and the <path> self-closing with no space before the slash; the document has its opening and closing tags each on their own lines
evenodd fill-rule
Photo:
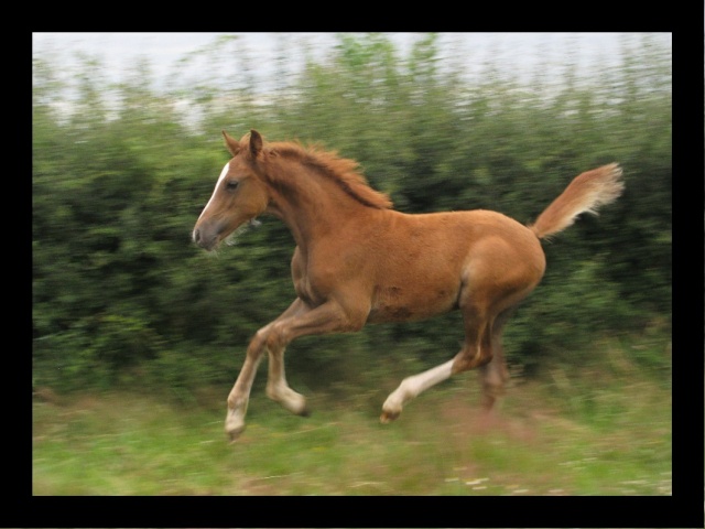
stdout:
<svg viewBox="0 0 705 529">
<path fill-rule="evenodd" d="M 557 234 L 582 213 L 597 215 L 597 208 L 615 202 L 623 188 L 621 168 L 616 163 L 587 171 L 576 176 L 529 228 L 540 239 Z"/>
</svg>

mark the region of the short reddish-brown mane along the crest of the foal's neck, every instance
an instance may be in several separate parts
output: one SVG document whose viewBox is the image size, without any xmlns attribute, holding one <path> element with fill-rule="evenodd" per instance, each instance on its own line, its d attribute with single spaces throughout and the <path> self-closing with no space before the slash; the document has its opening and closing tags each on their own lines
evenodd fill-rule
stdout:
<svg viewBox="0 0 705 529">
<path fill-rule="evenodd" d="M 368 207 L 390 209 L 392 201 L 384 193 L 369 186 L 355 160 L 338 156 L 336 151 L 326 151 L 318 144 L 304 147 L 299 142 L 282 141 L 265 145 L 269 155 L 294 158 L 301 163 L 319 170 L 348 195 Z"/>
</svg>

